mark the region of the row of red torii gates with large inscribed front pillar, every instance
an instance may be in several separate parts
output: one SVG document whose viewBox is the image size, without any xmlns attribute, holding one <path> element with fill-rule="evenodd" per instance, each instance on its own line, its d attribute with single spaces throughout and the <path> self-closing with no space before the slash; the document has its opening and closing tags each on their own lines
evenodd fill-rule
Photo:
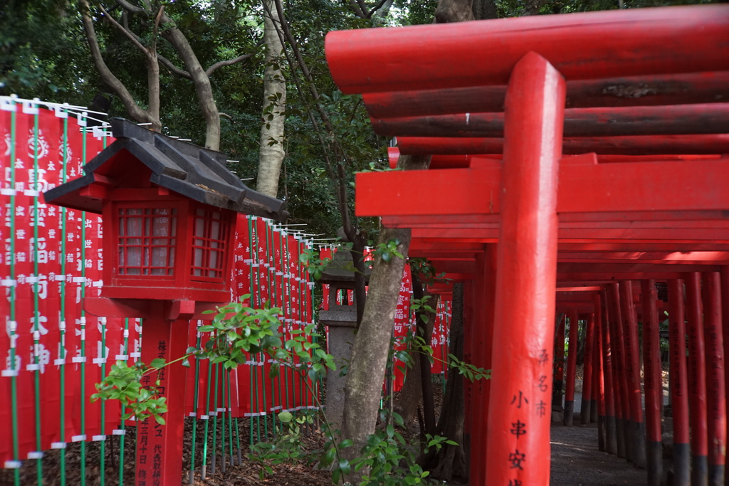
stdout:
<svg viewBox="0 0 729 486">
<path fill-rule="evenodd" d="M 594 311 L 600 331 L 595 349 L 601 352 L 593 353 L 601 370 L 596 388 L 606 397 L 600 406 L 638 433 L 632 280 L 645 281 L 643 313 L 655 321 L 647 326 L 655 334 L 655 280 L 669 281 L 669 302 L 679 306 L 677 283 L 686 278 L 689 330 L 696 334 L 703 272 L 706 314 L 713 316 L 704 326 L 714 333 L 712 352 L 721 352 L 720 269 L 722 283 L 729 283 L 729 193 L 723 190 L 729 159 L 721 155 L 729 153 L 729 111 L 721 103 L 728 95 L 729 7 L 333 32 L 327 58 L 340 89 L 364 93 L 375 130 L 398 136 L 402 153 L 443 154 L 432 164 L 442 169 L 359 174 L 356 209 L 383 216 L 386 226 L 412 227 L 411 254 L 458 255 L 444 260 L 445 270 L 475 280 L 472 298 L 479 305 L 472 312 L 480 326 L 469 329 L 469 342 L 480 346 L 472 353 L 475 364 L 491 367 L 493 379 L 471 394 L 472 484 L 549 482 L 546 377 L 557 281 L 604 284 L 593 306 L 581 309 Z M 433 197 L 427 187 L 445 197 Z M 682 258 L 682 252 L 690 254 Z M 682 308 L 672 310 L 671 321 Z M 671 332 L 682 326 L 679 320 Z M 703 360 L 703 337 L 693 334 L 690 342 L 702 350 L 692 356 Z M 620 338 L 612 362 L 611 336 Z M 499 342 L 493 359 L 491 342 Z M 719 357 L 713 364 L 721 368 Z M 692 369 L 703 383 L 703 366 Z M 651 367 L 648 460 L 649 480 L 658 484 L 654 372 Z M 491 386 L 499 393 L 489 393 Z M 702 393 L 705 388 L 693 394 Z M 693 434 L 694 474 L 706 476 L 709 455 L 713 482 L 723 478 L 725 461 L 723 389 L 720 394 L 710 397 L 717 413 L 709 418 L 718 447 L 706 447 L 705 404 L 703 425 L 698 409 Z M 620 429 L 608 424 L 607 448 L 620 452 L 622 444 L 625 455 L 631 437 Z"/>
</svg>

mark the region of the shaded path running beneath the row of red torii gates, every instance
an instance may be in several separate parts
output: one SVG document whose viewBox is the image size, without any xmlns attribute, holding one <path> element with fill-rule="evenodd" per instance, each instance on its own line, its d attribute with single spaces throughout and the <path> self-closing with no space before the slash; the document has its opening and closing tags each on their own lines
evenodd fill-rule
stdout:
<svg viewBox="0 0 729 486">
<path fill-rule="evenodd" d="M 597 448 L 597 426 L 552 424 L 550 486 L 642 486 L 645 469 Z"/>
</svg>

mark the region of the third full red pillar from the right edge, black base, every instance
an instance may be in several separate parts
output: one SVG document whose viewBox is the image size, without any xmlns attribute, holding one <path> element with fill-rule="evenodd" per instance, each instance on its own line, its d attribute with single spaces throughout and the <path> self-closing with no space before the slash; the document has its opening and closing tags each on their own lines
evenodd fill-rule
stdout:
<svg viewBox="0 0 729 486">
<path fill-rule="evenodd" d="M 686 324 L 684 312 L 684 283 L 668 281 L 668 342 L 671 347 L 668 366 L 671 369 L 671 408 L 674 418 L 674 449 L 685 450 L 674 461 L 675 484 L 691 484 L 689 460 L 688 374 L 686 366 Z"/>
</svg>

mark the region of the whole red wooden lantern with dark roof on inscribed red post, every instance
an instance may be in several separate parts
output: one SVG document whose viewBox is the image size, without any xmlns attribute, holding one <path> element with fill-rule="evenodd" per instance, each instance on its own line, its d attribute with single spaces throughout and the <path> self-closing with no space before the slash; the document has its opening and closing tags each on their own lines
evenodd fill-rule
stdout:
<svg viewBox="0 0 729 486">
<path fill-rule="evenodd" d="M 246 187 L 225 168 L 225 154 L 123 119 L 112 119 L 112 133 L 117 140 L 84 176 L 44 197 L 103 216 L 104 286 L 101 297 L 84 299 L 86 312 L 143 318 L 142 361 L 171 361 L 185 353 L 190 319 L 233 299 L 237 214 L 284 221 L 285 203 Z M 138 486 L 182 481 L 185 372 L 179 363 L 160 372 L 166 425 L 139 423 Z"/>
</svg>

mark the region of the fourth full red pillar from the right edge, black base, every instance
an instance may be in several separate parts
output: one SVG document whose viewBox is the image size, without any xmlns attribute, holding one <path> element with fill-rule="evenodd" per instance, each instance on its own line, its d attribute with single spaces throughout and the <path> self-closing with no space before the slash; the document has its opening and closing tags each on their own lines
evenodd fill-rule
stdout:
<svg viewBox="0 0 729 486">
<path fill-rule="evenodd" d="M 658 336 L 658 291 L 655 281 L 641 281 L 643 305 L 643 367 L 645 372 L 646 461 L 648 485 L 660 486 L 663 481 L 663 448 L 661 447 L 660 412 L 663 408 L 663 379 L 660 366 Z"/>
</svg>

